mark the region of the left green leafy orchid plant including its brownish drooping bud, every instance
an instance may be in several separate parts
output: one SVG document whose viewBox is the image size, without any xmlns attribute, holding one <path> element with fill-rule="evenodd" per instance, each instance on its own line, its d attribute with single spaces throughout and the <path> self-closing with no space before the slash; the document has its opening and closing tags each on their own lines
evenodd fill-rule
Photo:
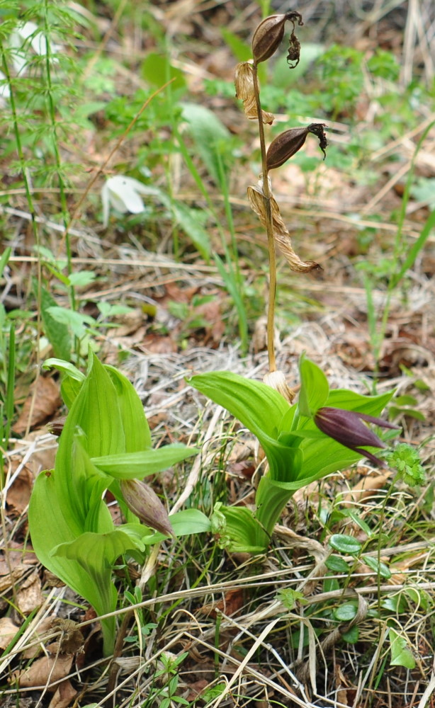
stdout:
<svg viewBox="0 0 435 708">
<path fill-rule="evenodd" d="M 55 469 L 41 472 L 28 512 L 30 535 L 40 562 L 85 598 L 98 615 L 116 609 L 112 582 L 120 556 L 144 559 L 150 544 L 210 529 L 197 509 L 168 515 L 143 479 L 196 455 L 175 443 L 152 447 L 144 409 L 134 387 L 115 367 L 89 356 L 87 375 L 62 360 L 62 396 L 69 407 Z M 125 523 L 115 525 L 105 501 L 110 490 Z M 110 654 L 115 617 L 101 620 L 103 650 Z"/>
</svg>

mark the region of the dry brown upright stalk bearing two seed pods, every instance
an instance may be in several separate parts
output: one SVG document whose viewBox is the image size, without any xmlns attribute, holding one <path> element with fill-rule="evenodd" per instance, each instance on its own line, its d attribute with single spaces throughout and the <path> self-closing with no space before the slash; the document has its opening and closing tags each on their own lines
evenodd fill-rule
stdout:
<svg viewBox="0 0 435 708">
<path fill-rule="evenodd" d="M 275 299 L 276 299 L 276 253 L 275 239 L 273 238 L 273 221 L 271 207 L 271 188 L 266 161 L 266 141 L 264 139 L 264 124 L 261 120 L 260 89 L 257 73 L 258 65 L 254 62 L 254 93 L 256 112 L 259 121 L 259 138 L 261 149 L 261 172 L 263 176 L 263 198 L 266 212 L 267 246 L 269 249 L 269 300 L 267 305 L 267 355 L 269 358 L 269 371 L 276 371 L 275 346 L 273 336 L 275 330 Z"/>
</svg>

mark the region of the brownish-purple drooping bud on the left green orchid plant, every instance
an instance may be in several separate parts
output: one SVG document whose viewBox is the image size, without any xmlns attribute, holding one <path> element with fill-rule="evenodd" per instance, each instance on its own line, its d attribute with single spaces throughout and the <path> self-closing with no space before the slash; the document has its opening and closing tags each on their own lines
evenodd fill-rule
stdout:
<svg viewBox="0 0 435 708">
<path fill-rule="evenodd" d="M 168 513 L 150 486 L 138 479 L 121 479 L 120 488 L 128 508 L 142 523 L 175 538 Z"/>
</svg>

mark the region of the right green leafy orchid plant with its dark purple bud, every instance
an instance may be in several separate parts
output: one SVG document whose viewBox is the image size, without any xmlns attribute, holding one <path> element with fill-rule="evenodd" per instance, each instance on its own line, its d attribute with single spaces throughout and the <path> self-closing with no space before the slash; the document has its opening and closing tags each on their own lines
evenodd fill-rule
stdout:
<svg viewBox="0 0 435 708">
<path fill-rule="evenodd" d="M 373 450 L 386 447 L 385 441 L 366 423 L 396 428 L 377 417 L 392 393 L 363 396 L 345 389 L 330 390 L 322 370 L 305 355 L 299 368 L 299 401 L 293 405 L 268 385 L 231 372 L 190 379 L 194 388 L 256 435 L 269 463 L 253 509 L 220 505 L 215 511 L 212 527 L 222 545 L 232 551 L 264 552 L 273 527 L 297 489 L 346 469 L 362 457 L 382 464 Z M 388 430 L 383 438 L 395 434 L 395 430 Z"/>
</svg>

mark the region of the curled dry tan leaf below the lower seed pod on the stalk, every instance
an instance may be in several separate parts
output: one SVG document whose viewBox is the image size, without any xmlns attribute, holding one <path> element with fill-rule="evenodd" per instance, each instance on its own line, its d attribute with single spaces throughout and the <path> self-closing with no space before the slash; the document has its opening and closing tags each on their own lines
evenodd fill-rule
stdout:
<svg viewBox="0 0 435 708">
<path fill-rule="evenodd" d="M 259 217 L 264 228 L 266 228 L 266 205 L 261 180 L 259 184 L 250 185 L 248 187 L 248 199 L 252 210 Z M 290 234 L 286 224 L 283 222 L 283 217 L 281 217 L 278 204 L 273 196 L 271 196 L 271 211 L 275 243 L 281 249 L 283 256 L 286 257 L 286 261 L 288 265 L 290 265 L 291 270 L 294 270 L 295 273 L 309 273 L 310 270 L 320 268 L 320 265 L 315 263 L 315 261 L 301 261 L 298 254 L 293 251 Z"/>
</svg>

